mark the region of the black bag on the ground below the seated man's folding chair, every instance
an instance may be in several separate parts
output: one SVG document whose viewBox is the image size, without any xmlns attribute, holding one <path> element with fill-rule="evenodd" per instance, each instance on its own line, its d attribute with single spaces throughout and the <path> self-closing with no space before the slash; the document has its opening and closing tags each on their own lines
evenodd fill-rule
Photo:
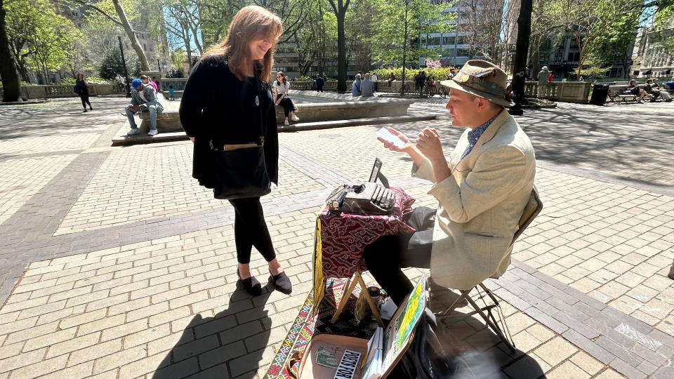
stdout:
<svg viewBox="0 0 674 379">
<path fill-rule="evenodd" d="M 426 307 L 411 345 L 388 378 L 476 378 L 461 357 L 460 346 Z"/>
</svg>

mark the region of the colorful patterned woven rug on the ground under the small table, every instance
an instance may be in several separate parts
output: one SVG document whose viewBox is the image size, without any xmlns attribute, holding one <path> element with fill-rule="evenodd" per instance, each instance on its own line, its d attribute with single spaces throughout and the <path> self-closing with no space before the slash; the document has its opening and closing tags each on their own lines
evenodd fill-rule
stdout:
<svg viewBox="0 0 674 379">
<path fill-rule="evenodd" d="M 353 317 L 353 310 L 360 293 L 358 286 L 356 286 L 351 294 L 337 322 L 331 324 L 330 320 L 337 310 L 339 300 L 342 298 L 345 289 L 344 279 L 328 279 L 325 297 L 318 306 L 318 313 L 315 317 L 312 317 L 311 312 L 314 305 L 314 294 L 313 291 L 309 293 L 307 300 L 305 300 L 304 305 L 300 308 L 295 322 L 293 322 L 293 326 L 291 326 L 279 351 L 276 353 L 274 359 L 272 359 L 269 368 L 267 368 L 267 373 L 264 376 L 265 379 L 291 378 L 286 371 L 286 362 L 292 357 L 293 353 L 304 351 L 315 334 L 333 333 L 352 335 L 359 338 L 371 338 L 377 326 L 376 321 L 357 324 Z"/>
</svg>

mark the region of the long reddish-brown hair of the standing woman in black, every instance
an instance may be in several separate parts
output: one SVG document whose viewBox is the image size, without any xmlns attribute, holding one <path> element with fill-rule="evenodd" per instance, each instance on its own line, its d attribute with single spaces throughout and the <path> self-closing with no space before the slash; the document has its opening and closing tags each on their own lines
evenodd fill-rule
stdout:
<svg viewBox="0 0 674 379">
<path fill-rule="evenodd" d="M 239 79 L 243 79 L 246 76 L 243 64 L 249 55 L 250 41 L 268 38 L 272 41 L 272 46 L 262 60 L 254 62 L 256 77 L 266 83 L 274 65 L 276 39 L 282 32 L 283 27 L 279 16 L 260 6 L 246 6 L 234 15 L 227 29 L 225 41 L 211 46 L 204 53 L 204 58 L 208 55 L 225 55 L 230 70 Z"/>
</svg>

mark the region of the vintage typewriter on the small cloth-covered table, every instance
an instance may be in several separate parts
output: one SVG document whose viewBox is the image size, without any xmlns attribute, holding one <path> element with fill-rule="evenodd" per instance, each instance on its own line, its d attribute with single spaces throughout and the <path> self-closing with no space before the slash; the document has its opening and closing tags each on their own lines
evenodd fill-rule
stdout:
<svg viewBox="0 0 674 379">
<path fill-rule="evenodd" d="M 395 206 L 395 193 L 388 189 L 388 180 L 381 174 L 381 160 L 376 159 L 368 182 L 359 185 L 341 185 L 326 199 L 332 211 L 388 215 Z M 378 184 L 379 179 L 383 184 Z"/>
</svg>

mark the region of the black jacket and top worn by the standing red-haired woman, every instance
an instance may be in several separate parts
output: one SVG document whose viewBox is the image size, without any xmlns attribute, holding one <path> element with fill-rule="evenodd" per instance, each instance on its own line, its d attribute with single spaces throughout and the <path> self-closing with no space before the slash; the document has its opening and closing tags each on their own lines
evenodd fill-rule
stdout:
<svg viewBox="0 0 674 379">
<path fill-rule="evenodd" d="M 227 58 L 209 55 L 194 65 L 187 79 L 180 100 L 180 124 L 194 137 L 192 176 L 199 185 L 213 188 L 216 182 L 211 140 L 220 146 L 259 143 L 260 128 L 267 175 L 278 185 L 279 137 L 269 84 L 253 77 L 241 81 L 230 71 Z"/>
</svg>

